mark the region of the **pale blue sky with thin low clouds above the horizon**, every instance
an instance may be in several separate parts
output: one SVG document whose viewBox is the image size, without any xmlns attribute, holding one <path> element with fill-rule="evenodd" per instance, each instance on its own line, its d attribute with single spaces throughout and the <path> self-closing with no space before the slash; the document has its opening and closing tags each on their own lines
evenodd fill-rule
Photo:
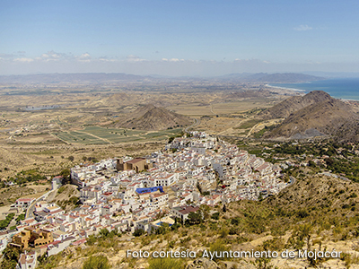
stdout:
<svg viewBox="0 0 359 269">
<path fill-rule="evenodd" d="M 359 72 L 357 0 L 0 0 L 0 74 Z"/>
</svg>

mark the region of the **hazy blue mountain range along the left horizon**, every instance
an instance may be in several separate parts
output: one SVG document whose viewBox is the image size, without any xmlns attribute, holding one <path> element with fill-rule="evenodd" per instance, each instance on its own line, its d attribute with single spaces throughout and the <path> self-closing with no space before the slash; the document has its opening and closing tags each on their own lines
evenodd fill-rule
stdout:
<svg viewBox="0 0 359 269">
<path fill-rule="evenodd" d="M 76 83 L 137 81 L 149 77 L 123 73 L 24 74 L 0 75 L 0 83 Z"/>
</svg>

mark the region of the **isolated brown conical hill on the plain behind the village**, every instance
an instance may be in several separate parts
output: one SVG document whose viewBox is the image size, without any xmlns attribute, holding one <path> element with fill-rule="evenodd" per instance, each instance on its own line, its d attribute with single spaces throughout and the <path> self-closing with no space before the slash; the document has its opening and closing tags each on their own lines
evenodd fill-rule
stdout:
<svg viewBox="0 0 359 269">
<path fill-rule="evenodd" d="M 119 118 L 115 126 L 140 130 L 164 130 L 189 124 L 191 124 L 189 117 L 171 112 L 166 108 L 145 105 Z"/>
</svg>

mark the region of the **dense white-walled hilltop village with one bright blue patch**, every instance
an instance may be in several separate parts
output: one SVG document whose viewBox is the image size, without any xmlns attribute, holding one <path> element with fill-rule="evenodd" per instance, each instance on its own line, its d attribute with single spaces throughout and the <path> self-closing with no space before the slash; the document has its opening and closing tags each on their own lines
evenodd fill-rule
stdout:
<svg viewBox="0 0 359 269">
<path fill-rule="evenodd" d="M 153 233 L 163 223 L 184 223 L 204 205 L 215 209 L 219 204 L 276 195 L 290 184 L 282 178 L 279 165 L 206 133 L 190 132 L 170 139 L 164 150 L 145 158 L 75 166 L 71 180 L 80 189 L 82 205 L 66 212 L 44 199 L 19 199 L 15 206 L 27 209 L 28 218 L 12 237 L 2 235 L 2 241 L 32 250 L 22 254 L 20 263 L 33 268 L 34 256 L 51 256 L 84 244 L 103 229 Z M 53 191 L 59 190 L 60 180 L 53 178 Z"/>
</svg>

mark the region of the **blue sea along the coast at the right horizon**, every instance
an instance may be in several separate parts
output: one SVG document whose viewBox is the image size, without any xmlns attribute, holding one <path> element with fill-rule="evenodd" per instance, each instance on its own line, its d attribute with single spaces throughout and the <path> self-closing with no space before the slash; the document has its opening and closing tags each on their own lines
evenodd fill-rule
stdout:
<svg viewBox="0 0 359 269">
<path fill-rule="evenodd" d="M 326 91 L 335 98 L 359 100 L 359 78 L 329 79 L 305 83 L 270 83 L 269 85 L 304 92 Z"/>
</svg>

